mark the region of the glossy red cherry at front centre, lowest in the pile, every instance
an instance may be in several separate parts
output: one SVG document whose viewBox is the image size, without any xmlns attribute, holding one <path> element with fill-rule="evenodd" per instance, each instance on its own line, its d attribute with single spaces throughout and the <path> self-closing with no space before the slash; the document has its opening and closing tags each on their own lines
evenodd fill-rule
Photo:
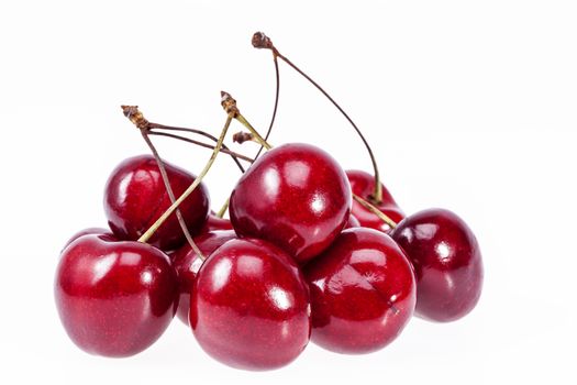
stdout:
<svg viewBox="0 0 577 385">
<path fill-rule="evenodd" d="M 310 338 L 307 283 L 275 245 L 229 241 L 198 273 L 190 324 L 202 349 L 226 365 L 254 371 L 287 365 Z"/>
</svg>

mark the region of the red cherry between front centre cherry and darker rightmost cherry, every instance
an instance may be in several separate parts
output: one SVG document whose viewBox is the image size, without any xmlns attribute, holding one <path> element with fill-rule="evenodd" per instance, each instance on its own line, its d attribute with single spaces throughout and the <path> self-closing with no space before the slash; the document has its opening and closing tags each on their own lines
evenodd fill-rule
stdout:
<svg viewBox="0 0 577 385">
<path fill-rule="evenodd" d="M 402 331 L 415 304 L 411 264 L 387 234 L 345 230 L 304 267 L 311 289 L 312 337 L 337 353 L 379 350 Z"/>
</svg>

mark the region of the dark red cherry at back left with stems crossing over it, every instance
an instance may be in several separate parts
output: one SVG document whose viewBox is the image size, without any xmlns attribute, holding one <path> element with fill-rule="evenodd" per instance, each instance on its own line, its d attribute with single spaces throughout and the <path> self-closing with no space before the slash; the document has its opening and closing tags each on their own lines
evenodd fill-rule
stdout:
<svg viewBox="0 0 577 385">
<path fill-rule="evenodd" d="M 182 168 L 166 163 L 166 172 L 176 197 L 195 180 Z M 104 191 L 104 211 L 110 229 L 122 240 L 137 240 L 170 206 L 154 157 L 134 156 L 122 162 L 110 175 Z M 199 233 L 209 212 L 209 194 L 201 184 L 179 207 L 192 234 Z M 176 215 L 170 216 L 151 238 L 162 250 L 175 250 L 185 242 Z"/>
</svg>

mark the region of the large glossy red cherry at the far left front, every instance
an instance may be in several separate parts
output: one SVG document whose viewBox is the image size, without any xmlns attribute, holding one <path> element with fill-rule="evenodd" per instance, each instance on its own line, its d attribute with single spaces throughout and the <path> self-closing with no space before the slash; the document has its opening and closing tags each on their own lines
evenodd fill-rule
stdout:
<svg viewBox="0 0 577 385">
<path fill-rule="evenodd" d="M 176 312 L 177 277 L 162 251 L 107 235 L 84 235 L 62 253 L 56 307 L 82 350 L 129 356 L 153 344 Z"/>
</svg>

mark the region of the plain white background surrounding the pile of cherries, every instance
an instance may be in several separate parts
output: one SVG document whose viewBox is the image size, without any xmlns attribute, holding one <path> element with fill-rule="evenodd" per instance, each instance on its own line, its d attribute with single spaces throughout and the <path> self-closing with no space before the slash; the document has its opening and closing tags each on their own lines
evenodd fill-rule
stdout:
<svg viewBox="0 0 577 385">
<path fill-rule="evenodd" d="M 575 1 L 555 0 L 2 1 L 0 383 L 575 384 L 576 20 Z M 481 301 L 458 322 L 414 319 L 378 353 L 311 344 L 268 373 L 212 361 L 178 320 L 131 359 L 81 352 L 57 318 L 53 277 L 70 234 L 106 226 L 110 170 L 146 152 L 119 106 L 218 133 L 225 89 L 264 130 L 274 73 L 251 46 L 257 30 L 346 107 L 407 212 L 444 207 L 470 224 Z M 286 141 L 369 170 L 336 110 L 281 66 L 271 142 Z M 157 143 L 192 172 L 209 156 Z M 213 207 L 237 176 L 218 161 Z"/>
</svg>

